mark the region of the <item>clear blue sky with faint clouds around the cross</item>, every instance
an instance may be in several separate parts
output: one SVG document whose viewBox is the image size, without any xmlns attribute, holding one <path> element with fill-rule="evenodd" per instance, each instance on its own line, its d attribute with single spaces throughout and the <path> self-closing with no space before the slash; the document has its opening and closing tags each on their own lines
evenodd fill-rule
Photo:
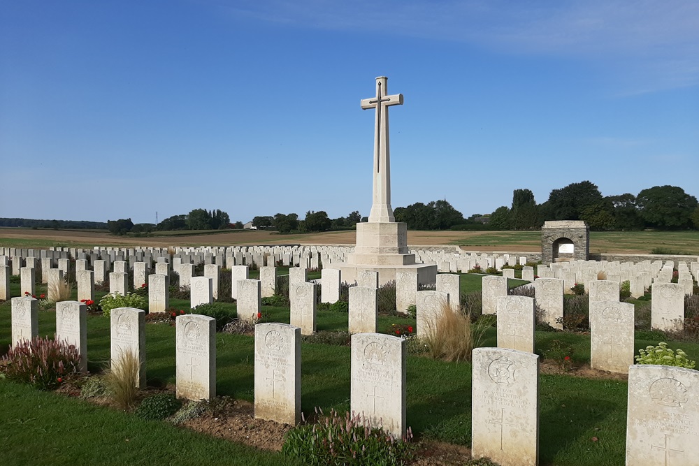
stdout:
<svg viewBox="0 0 699 466">
<path fill-rule="evenodd" d="M 0 0 L 0 217 L 464 216 L 590 180 L 699 197 L 699 2 Z"/>
</svg>

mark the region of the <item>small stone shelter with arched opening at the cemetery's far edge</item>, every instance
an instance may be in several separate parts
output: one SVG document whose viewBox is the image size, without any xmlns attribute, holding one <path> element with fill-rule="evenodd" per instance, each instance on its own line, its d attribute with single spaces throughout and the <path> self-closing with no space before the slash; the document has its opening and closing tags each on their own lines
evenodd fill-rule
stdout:
<svg viewBox="0 0 699 466">
<path fill-rule="evenodd" d="M 586 261 L 590 227 L 582 220 L 549 220 L 541 227 L 541 262 Z"/>
</svg>

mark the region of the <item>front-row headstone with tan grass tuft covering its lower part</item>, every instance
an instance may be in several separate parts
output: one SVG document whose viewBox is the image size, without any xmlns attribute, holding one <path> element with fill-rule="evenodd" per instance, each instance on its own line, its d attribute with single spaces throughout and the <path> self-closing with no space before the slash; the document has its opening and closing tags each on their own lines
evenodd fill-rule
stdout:
<svg viewBox="0 0 699 466">
<path fill-rule="evenodd" d="M 140 363 L 136 386 L 145 387 L 145 311 L 117 307 L 111 310 L 109 318 L 112 369 L 132 354 Z"/>
</svg>

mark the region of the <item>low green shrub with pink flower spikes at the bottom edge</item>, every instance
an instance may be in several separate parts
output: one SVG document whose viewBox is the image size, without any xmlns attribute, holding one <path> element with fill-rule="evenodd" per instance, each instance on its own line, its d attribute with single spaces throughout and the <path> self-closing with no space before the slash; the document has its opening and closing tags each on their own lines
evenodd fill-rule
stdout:
<svg viewBox="0 0 699 466">
<path fill-rule="evenodd" d="M 322 412 L 321 412 L 322 414 Z M 371 428 L 366 418 L 331 411 L 313 425 L 301 425 L 287 432 L 282 453 L 305 465 L 403 465 L 412 458 L 412 430 L 395 440 L 382 429 Z"/>
</svg>

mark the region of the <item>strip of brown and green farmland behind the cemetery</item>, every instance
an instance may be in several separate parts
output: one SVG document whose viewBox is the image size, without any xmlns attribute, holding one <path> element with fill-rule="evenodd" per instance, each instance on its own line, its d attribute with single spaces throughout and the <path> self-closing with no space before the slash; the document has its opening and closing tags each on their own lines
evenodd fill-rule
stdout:
<svg viewBox="0 0 699 466">
<path fill-rule="evenodd" d="M 160 233 L 159 233 L 160 234 Z M 467 251 L 540 251 L 539 231 L 408 231 L 408 245 L 459 245 Z M 201 245 L 354 245 L 354 231 L 280 235 L 269 231 L 164 232 L 161 236 L 120 237 L 106 232 L 0 228 L 0 246 L 201 246 Z M 651 254 L 654 248 L 699 255 L 698 231 L 630 231 L 590 233 L 590 252 Z"/>
</svg>

